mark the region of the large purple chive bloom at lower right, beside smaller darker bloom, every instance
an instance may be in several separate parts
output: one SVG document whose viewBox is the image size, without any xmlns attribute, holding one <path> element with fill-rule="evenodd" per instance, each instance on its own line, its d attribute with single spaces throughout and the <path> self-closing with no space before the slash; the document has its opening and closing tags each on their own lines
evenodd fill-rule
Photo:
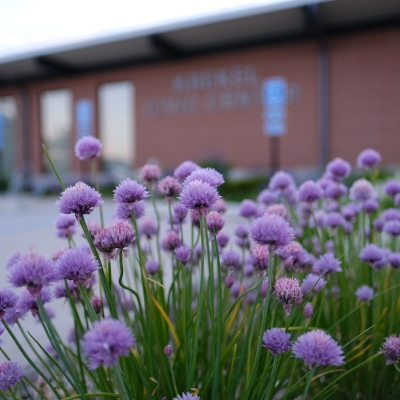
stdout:
<svg viewBox="0 0 400 400">
<path fill-rule="evenodd" d="M 295 357 L 304 360 L 310 368 L 344 364 L 343 350 L 328 334 L 314 330 L 301 335 L 293 344 Z"/>
</svg>

